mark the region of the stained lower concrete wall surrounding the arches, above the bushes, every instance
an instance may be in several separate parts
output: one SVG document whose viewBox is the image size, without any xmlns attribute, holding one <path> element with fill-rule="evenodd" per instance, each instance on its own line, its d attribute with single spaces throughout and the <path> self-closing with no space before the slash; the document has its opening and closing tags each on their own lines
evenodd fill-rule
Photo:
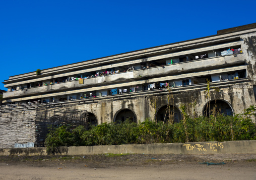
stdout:
<svg viewBox="0 0 256 180">
<path fill-rule="evenodd" d="M 221 91 L 216 92 L 214 89 L 211 90 L 211 100 L 222 100 L 227 102 L 233 113 L 240 113 L 243 109 L 248 107 L 248 104 L 255 104 L 253 97 L 252 84 L 247 81 L 236 81 L 223 84 L 220 87 Z M 178 88 L 177 88 L 178 89 Z M 188 103 L 195 102 L 197 100 L 196 114 L 203 114 L 203 109 L 207 104 L 207 98 L 205 97 L 205 85 L 198 85 L 194 88 L 189 89 L 178 89 L 173 88 L 174 106 L 180 107 L 181 104 L 186 104 L 188 108 L 188 114 L 193 114 L 193 109 Z M 72 104 L 67 106 L 76 106 L 79 109 L 89 109 L 89 112 L 93 113 L 98 123 L 102 122 L 112 122 L 115 121 L 115 116 L 120 110 L 130 109 L 132 110 L 137 119 L 143 121 L 146 118 L 154 117 L 155 111 L 168 104 L 166 98 L 168 92 L 162 90 L 159 92 L 152 92 L 148 94 L 141 95 L 130 95 L 127 96 L 117 96 L 114 99 L 102 99 L 96 102 L 86 103 L 82 105 Z M 200 97 L 200 98 L 199 98 Z M 156 99 L 157 108 L 155 109 L 152 102 Z"/>
</svg>

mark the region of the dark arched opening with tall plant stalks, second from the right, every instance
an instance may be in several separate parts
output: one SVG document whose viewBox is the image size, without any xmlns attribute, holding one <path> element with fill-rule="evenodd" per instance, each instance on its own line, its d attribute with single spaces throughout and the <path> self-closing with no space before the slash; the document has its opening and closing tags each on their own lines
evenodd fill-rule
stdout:
<svg viewBox="0 0 256 180">
<path fill-rule="evenodd" d="M 165 105 L 157 111 L 156 119 L 157 121 L 179 123 L 181 120 L 181 113 L 175 106 L 170 106 L 170 108 L 168 108 L 168 105 Z"/>
</svg>

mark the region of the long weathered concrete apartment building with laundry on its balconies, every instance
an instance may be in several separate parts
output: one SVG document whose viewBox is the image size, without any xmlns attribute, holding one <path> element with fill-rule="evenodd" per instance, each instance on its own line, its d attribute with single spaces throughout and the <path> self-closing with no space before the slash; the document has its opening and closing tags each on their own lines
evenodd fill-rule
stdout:
<svg viewBox="0 0 256 180">
<path fill-rule="evenodd" d="M 255 105 L 256 23 L 217 35 L 20 74 L 5 80 L 3 103 L 40 100 L 85 109 L 102 122 L 181 119 L 207 104 L 227 115 Z M 207 80 L 211 86 L 206 91 Z M 166 87 L 170 87 L 169 89 Z M 168 91 L 169 90 L 169 91 Z M 189 103 L 197 102 L 195 108 Z"/>
</svg>

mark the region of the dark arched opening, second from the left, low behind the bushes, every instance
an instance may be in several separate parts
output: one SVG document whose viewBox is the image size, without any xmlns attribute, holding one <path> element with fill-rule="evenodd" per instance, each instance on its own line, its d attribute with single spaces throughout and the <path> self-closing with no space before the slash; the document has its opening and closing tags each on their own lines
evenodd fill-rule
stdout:
<svg viewBox="0 0 256 180">
<path fill-rule="evenodd" d="M 130 122 L 137 122 L 135 113 L 130 109 L 120 110 L 114 118 L 115 122 L 124 122 L 126 120 L 129 120 Z"/>
</svg>

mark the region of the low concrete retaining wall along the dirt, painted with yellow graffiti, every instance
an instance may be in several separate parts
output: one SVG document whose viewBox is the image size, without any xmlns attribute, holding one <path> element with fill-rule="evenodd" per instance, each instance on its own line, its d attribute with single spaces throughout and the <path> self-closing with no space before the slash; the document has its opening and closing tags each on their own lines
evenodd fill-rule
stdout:
<svg viewBox="0 0 256 180">
<path fill-rule="evenodd" d="M 124 144 L 60 147 L 57 154 L 105 154 L 105 153 L 145 153 L 145 154 L 202 154 L 202 153 L 256 153 L 256 140 L 224 142 L 187 142 L 162 144 Z M 5 148 L 0 155 L 47 155 L 45 147 Z"/>
</svg>

